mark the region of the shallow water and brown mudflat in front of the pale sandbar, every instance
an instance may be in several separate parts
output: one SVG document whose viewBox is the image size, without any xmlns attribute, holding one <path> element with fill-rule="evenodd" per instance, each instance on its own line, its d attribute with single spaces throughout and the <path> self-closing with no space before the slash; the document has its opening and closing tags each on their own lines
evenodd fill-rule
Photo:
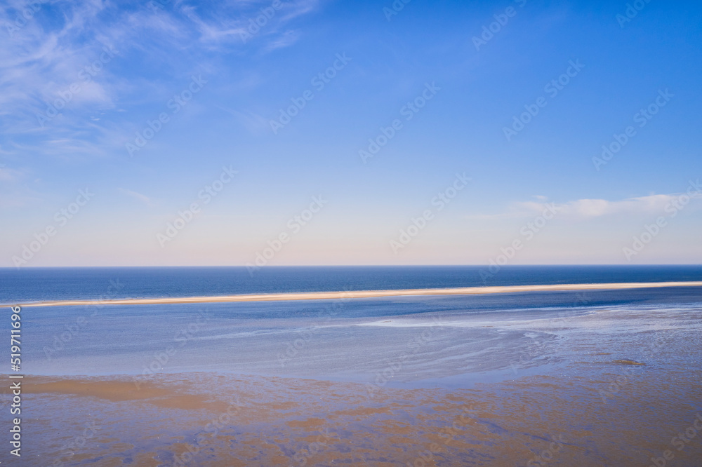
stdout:
<svg viewBox="0 0 702 467">
<path fill-rule="evenodd" d="M 702 459 L 699 287 L 22 313 L 21 465 Z"/>
</svg>

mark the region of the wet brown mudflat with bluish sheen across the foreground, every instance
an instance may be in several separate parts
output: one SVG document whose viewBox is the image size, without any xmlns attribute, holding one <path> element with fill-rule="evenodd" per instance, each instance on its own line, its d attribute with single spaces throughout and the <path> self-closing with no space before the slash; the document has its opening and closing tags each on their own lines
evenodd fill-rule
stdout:
<svg viewBox="0 0 702 467">
<path fill-rule="evenodd" d="M 159 375 L 140 388 L 122 377 L 32 377 L 26 404 L 43 417 L 27 419 L 27 445 L 46 455 L 27 465 L 649 465 L 702 411 L 699 375 L 672 385 L 633 374 L 604 402 L 612 366 L 601 379 L 521 377 L 372 397 L 363 384 L 211 373 Z M 698 438 L 675 451 L 676 466 L 695 459 Z"/>
</svg>

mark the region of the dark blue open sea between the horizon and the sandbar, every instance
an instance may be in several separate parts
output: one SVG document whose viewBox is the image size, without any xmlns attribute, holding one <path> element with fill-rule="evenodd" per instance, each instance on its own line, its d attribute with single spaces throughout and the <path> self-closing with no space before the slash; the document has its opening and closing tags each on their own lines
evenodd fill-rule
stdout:
<svg viewBox="0 0 702 467">
<path fill-rule="evenodd" d="M 702 266 L 314 266 L 0 269 L 0 304 L 60 299 L 195 297 L 267 292 L 397 290 L 702 280 Z"/>
</svg>

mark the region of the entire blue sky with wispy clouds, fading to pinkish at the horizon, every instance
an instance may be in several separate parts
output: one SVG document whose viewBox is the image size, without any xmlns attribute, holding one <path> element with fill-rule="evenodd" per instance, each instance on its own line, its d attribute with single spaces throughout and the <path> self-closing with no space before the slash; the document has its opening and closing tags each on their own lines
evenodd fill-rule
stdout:
<svg viewBox="0 0 702 467">
<path fill-rule="evenodd" d="M 701 20 L 4 1 L 0 266 L 699 264 Z"/>
</svg>

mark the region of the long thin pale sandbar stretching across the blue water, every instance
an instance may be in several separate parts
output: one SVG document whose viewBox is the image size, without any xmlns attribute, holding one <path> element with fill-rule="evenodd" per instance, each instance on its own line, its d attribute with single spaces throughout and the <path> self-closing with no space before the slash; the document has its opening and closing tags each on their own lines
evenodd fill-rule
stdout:
<svg viewBox="0 0 702 467">
<path fill-rule="evenodd" d="M 325 300 L 382 297 L 416 297 L 431 295 L 487 295 L 514 292 L 568 292 L 576 290 L 625 290 L 659 287 L 702 287 L 702 281 L 651 282 L 651 283 L 601 283 L 601 284 L 543 284 L 543 285 L 493 285 L 484 287 L 453 287 L 446 289 L 399 290 L 347 290 L 338 292 L 279 292 L 269 294 L 222 295 L 216 297 L 161 297 L 109 300 L 52 300 L 8 304 L 6 306 L 81 306 L 81 305 L 150 305 L 198 304 L 230 302 L 281 302 L 293 300 Z"/>
</svg>

